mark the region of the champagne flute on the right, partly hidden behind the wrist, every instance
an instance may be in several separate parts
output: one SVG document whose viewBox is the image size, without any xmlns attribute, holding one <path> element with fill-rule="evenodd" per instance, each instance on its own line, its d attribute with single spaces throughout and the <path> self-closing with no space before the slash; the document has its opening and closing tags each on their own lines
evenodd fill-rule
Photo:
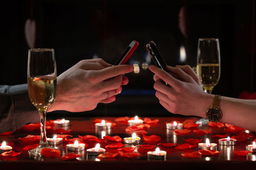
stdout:
<svg viewBox="0 0 256 170">
<path fill-rule="evenodd" d="M 199 38 L 196 72 L 204 91 L 211 94 L 220 80 L 220 45 L 216 38 Z"/>
</svg>

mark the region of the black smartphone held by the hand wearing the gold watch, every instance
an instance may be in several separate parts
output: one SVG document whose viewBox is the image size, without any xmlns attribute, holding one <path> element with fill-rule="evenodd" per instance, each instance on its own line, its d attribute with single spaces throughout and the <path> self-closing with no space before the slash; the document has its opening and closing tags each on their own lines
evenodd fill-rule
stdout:
<svg viewBox="0 0 256 170">
<path fill-rule="evenodd" d="M 157 50 L 156 43 L 154 41 L 150 41 L 149 43 L 147 43 L 146 49 L 148 50 L 148 52 L 151 56 L 151 59 L 154 61 L 154 64 L 157 67 L 159 67 L 159 68 L 163 69 L 164 71 L 166 71 L 167 73 L 169 73 L 169 71 L 166 70 L 166 62 L 164 61 L 163 57 Z"/>
</svg>

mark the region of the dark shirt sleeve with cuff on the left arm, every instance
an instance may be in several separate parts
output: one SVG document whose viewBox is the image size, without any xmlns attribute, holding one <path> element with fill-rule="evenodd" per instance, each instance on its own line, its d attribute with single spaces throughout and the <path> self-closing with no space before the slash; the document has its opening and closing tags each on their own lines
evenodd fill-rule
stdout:
<svg viewBox="0 0 256 170">
<path fill-rule="evenodd" d="M 0 103 L 0 133 L 40 121 L 28 97 L 28 84 L 0 85 Z"/>
</svg>

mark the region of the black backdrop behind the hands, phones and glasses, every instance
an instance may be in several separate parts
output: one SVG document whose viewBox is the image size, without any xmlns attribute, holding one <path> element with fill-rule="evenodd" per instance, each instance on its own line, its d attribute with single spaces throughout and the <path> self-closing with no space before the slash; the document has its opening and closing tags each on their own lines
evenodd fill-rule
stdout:
<svg viewBox="0 0 256 170">
<path fill-rule="evenodd" d="M 186 34 L 179 27 L 180 8 L 186 9 Z M 153 74 L 145 44 L 155 41 L 168 65 L 196 66 L 198 38 L 219 38 L 221 78 L 213 94 L 239 97 L 255 92 L 255 1 L 3 1 L 0 5 L 0 84 L 26 83 L 28 43 L 24 24 L 36 21 L 36 48 L 54 48 L 58 74 L 82 59 L 101 57 L 114 63 L 136 39 L 140 46 L 129 59 L 140 73 L 127 74 L 129 85 L 111 104 L 72 115 L 170 116 L 154 96 Z M 186 60 L 179 60 L 180 46 Z M 55 111 L 49 116 L 68 114 Z"/>
</svg>

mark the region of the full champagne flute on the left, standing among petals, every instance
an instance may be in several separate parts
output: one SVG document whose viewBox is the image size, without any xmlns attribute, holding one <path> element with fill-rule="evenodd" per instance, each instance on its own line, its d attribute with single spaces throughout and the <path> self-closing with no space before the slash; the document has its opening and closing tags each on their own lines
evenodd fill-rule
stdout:
<svg viewBox="0 0 256 170">
<path fill-rule="evenodd" d="M 48 108 L 56 95 L 56 60 L 54 49 L 34 48 L 28 52 L 28 94 L 31 103 L 40 115 L 40 143 L 29 154 L 40 156 L 43 148 L 49 147 L 45 132 Z"/>
</svg>

